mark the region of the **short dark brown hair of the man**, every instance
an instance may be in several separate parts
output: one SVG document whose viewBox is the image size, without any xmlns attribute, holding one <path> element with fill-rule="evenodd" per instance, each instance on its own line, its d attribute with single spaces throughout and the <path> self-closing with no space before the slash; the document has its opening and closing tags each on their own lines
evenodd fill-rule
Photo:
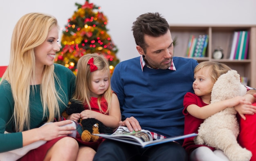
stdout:
<svg viewBox="0 0 256 161">
<path fill-rule="evenodd" d="M 147 44 L 144 35 L 159 37 L 167 33 L 170 26 L 166 19 L 158 12 L 144 13 L 133 22 L 132 31 L 136 45 L 139 45 L 146 53 Z"/>
</svg>

